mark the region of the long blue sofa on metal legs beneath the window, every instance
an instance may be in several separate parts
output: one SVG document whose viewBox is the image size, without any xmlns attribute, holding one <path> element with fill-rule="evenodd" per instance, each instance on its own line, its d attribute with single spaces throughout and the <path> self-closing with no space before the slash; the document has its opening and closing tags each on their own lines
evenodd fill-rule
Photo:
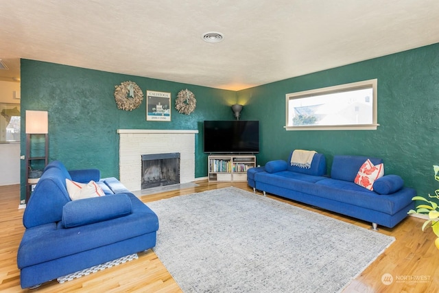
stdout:
<svg viewBox="0 0 439 293">
<path fill-rule="evenodd" d="M 322 209 L 348 215 L 389 228 L 401 222 L 410 209 L 414 209 L 416 191 L 404 187 L 403 179 L 387 175 L 375 180 L 373 191 L 354 183 L 361 165 L 370 159 L 377 165 L 382 159 L 367 156 L 334 156 L 330 176 L 326 175 L 327 163 L 323 154 L 315 154 L 311 168 L 292 166 L 288 161 L 270 161 L 264 167 L 248 170 L 248 185 L 263 191 L 311 204 Z"/>
</svg>

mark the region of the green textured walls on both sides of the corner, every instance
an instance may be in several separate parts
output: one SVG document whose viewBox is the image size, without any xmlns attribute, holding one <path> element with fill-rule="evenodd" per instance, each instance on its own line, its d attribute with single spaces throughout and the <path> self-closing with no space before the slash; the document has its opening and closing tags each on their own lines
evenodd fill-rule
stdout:
<svg viewBox="0 0 439 293">
<path fill-rule="evenodd" d="M 195 177 L 202 177 L 206 176 L 202 121 L 233 119 L 230 105 L 237 101 L 245 105 L 241 119 L 260 121 L 259 164 L 285 159 L 296 148 L 325 154 L 329 167 L 335 154 L 377 156 L 383 158 L 387 174 L 399 174 L 406 185 L 425 195 L 438 186 L 432 168 L 439 164 L 435 121 L 439 112 L 438 52 L 439 44 L 435 44 L 238 92 L 21 60 L 21 106 L 22 113 L 27 109 L 49 111 L 50 160 L 59 159 L 69 169 L 99 167 L 102 176 L 119 176 L 118 128 L 198 129 Z M 286 93 L 373 78 L 378 79 L 377 130 L 283 128 Z M 145 102 L 132 112 L 118 110 L 115 85 L 127 80 L 136 82 L 144 93 L 171 92 L 173 102 L 178 91 L 187 88 L 197 98 L 195 113 L 181 115 L 171 107 L 171 122 L 155 122 L 145 121 Z M 24 129 L 24 117 L 22 121 Z M 21 148 L 24 154 L 24 143 Z M 23 166 L 24 162 L 22 170 Z"/>
</svg>

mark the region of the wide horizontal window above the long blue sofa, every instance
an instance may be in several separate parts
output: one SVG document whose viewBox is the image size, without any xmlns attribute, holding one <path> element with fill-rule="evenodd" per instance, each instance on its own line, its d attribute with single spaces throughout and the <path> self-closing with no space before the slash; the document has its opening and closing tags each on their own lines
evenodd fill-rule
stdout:
<svg viewBox="0 0 439 293">
<path fill-rule="evenodd" d="M 376 130 L 377 80 L 287 93 L 287 130 Z"/>
</svg>

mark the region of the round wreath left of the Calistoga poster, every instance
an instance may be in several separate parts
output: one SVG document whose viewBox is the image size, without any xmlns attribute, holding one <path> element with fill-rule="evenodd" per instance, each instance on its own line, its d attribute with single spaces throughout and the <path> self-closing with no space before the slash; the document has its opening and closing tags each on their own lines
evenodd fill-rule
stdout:
<svg viewBox="0 0 439 293">
<path fill-rule="evenodd" d="M 142 90 L 135 82 L 122 82 L 115 86 L 115 99 L 117 108 L 132 111 L 139 108 L 143 101 Z"/>
</svg>

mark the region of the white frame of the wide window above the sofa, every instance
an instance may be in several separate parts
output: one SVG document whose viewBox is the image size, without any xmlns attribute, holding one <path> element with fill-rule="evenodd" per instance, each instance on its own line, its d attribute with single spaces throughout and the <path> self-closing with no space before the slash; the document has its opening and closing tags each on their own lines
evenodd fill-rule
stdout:
<svg viewBox="0 0 439 293">
<path fill-rule="evenodd" d="M 337 86 L 328 86 L 322 89 L 313 89 L 309 91 L 300 91 L 298 93 L 287 93 L 285 95 L 285 129 L 286 130 L 377 130 L 377 79 L 364 80 L 361 82 L 352 82 L 350 84 L 340 84 Z M 346 91 L 355 91 L 359 89 L 372 88 L 372 123 L 371 124 L 343 124 L 343 125 L 300 125 L 293 126 L 289 124 L 292 121 L 294 113 L 290 113 L 289 101 L 292 99 L 302 99 L 306 97 L 316 97 L 318 95 L 328 95 L 334 93 L 344 93 Z"/>
</svg>

